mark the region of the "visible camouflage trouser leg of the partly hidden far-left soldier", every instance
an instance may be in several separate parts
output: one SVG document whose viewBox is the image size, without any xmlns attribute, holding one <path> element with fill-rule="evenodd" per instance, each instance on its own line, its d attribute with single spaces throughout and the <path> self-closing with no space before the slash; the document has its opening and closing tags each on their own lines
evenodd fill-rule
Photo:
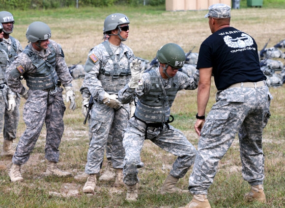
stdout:
<svg viewBox="0 0 285 208">
<path fill-rule="evenodd" d="M 16 138 L 17 128 L 20 119 L 20 100 L 21 97 L 18 93 L 16 93 L 15 102 L 16 106 L 12 113 L 9 113 L 7 109 L 4 114 L 4 128 L 3 128 L 3 136 L 5 140 L 13 140 Z"/>
</svg>

